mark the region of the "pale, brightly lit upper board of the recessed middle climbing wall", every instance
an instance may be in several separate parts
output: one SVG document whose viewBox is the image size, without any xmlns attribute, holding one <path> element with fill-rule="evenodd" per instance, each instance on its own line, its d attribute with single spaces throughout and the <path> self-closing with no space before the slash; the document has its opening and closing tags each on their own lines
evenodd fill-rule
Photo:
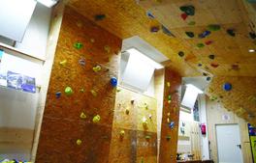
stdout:
<svg viewBox="0 0 256 163">
<path fill-rule="evenodd" d="M 157 101 L 155 98 L 141 95 L 133 91 L 119 87 L 115 99 L 113 127 L 120 127 L 133 130 L 157 131 Z M 134 100 L 134 103 L 131 103 Z M 147 109 L 144 107 L 146 104 Z M 129 114 L 126 114 L 126 110 Z M 151 119 L 149 119 L 151 115 Z M 143 118 L 147 120 L 147 127 L 144 128 Z"/>
</svg>

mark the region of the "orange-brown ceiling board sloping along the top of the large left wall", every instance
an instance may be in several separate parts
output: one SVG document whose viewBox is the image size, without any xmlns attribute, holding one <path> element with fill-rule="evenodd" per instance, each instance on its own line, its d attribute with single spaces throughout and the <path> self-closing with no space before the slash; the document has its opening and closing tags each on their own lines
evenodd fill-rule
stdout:
<svg viewBox="0 0 256 163">
<path fill-rule="evenodd" d="M 139 36 L 164 55 L 171 59 L 172 68 L 176 68 L 182 75 L 199 75 L 198 71 L 182 61 L 176 51 L 186 46 L 181 39 L 172 38 L 161 32 L 151 33 L 152 26 L 161 26 L 156 19 L 146 16 L 135 0 L 70 0 L 69 6 L 92 21 L 96 14 L 106 14 L 106 18 L 95 21 L 104 29 L 121 39 Z"/>
</svg>

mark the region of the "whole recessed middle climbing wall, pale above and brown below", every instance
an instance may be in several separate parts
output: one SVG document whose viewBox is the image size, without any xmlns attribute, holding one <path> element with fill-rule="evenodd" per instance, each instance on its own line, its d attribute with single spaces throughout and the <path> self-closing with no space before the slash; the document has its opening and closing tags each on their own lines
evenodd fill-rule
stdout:
<svg viewBox="0 0 256 163">
<path fill-rule="evenodd" d="M 114 108 L 110 162 L 156 163 L 156 99 L 120 87 Z"/>
</svg>

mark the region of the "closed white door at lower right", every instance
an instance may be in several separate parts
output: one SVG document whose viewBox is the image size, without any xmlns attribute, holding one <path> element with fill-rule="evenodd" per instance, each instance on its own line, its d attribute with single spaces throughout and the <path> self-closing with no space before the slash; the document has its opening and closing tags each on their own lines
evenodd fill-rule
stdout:
<svg viewBox="0 0 256 163">
<path fill-rule="evenodd" d="M 216 124 L 219 163 L 242 163 L 238 124 Z"/>
</svg>

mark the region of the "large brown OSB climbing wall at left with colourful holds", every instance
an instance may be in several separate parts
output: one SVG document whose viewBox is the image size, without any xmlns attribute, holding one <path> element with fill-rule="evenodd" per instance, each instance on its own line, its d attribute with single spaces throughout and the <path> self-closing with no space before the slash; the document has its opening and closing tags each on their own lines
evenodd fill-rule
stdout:
<svg viewBox="0 0 256 163">
<path fill-rule="evenodd" d="M 37 163 L 107 163 L 121 40 L 66 7 Z"/>
</svg>

